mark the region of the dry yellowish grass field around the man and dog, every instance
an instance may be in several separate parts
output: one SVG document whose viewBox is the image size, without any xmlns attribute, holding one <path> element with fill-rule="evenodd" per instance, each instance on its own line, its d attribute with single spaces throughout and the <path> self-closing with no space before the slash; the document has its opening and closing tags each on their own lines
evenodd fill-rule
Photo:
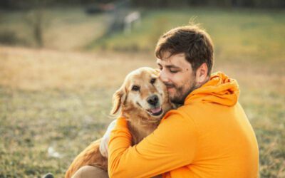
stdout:
<svg viewBox="0 0 285 178">
<path fill-rule="evenodd" d="M 73 157 L 103 135 L 111 95 L 125 75 L 155 67 L 145 54 L 3 46 L 0 63 L 0 177 L 62 177 Z M 239 101 L 259 141 L 261 177 L 285 176 L 284 64 L 216 63 L 215 70 L 239 81 Z"/>
</svg>

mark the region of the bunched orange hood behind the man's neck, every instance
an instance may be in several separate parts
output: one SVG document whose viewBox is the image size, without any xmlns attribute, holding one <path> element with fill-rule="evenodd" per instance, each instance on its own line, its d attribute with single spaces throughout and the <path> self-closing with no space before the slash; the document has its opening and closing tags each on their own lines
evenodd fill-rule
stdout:
<svg viewBox="0 0 285 178">
<path fill-rule="evenodd" d="M 185 105 L 202 101 L 232 106 L 239 98 L 237 80 L 229 78 L 222 72 L 213 73 L 210 80 L 202 87 L 193 90 L 185 99 Z"/>
</svg>

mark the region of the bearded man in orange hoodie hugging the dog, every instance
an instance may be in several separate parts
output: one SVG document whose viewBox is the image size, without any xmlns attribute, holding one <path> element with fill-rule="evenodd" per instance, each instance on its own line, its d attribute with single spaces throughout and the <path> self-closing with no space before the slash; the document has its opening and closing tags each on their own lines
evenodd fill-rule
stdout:
<svg viewBox="0 0 285 178">
<path fill-rule="evenodd" d="M 155 55 L 170 100 L 182 106 L 133 147 L 126 120 L 118 118 L 110 132 L 109 176 L 258 177 L 257 140 L 237 102 L 237 81 L 210 75 L 209 35 L 197 26 L 174 28 L 160 38 Z"/>
</svg>

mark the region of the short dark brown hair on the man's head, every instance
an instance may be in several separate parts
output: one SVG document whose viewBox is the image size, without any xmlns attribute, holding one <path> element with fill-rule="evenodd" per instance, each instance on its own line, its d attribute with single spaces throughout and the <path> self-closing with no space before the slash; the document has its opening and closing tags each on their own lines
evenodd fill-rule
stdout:
<svg viewBox="0 0 285 178">
<path fill-rule="evenodd" d="M 185 58 L 190 62 L 194 71 L 202 63 L 206 63 L 208 67 L 207 75 L 211 74 L 214 46 L 209 34 L 199 26 L 180 26 L 163 34 L 157 42 L 155 56 L 162 59 L 162 55 L 166 51 L 170 52 L 170 56 L 185 53 Z"/>
</svg>

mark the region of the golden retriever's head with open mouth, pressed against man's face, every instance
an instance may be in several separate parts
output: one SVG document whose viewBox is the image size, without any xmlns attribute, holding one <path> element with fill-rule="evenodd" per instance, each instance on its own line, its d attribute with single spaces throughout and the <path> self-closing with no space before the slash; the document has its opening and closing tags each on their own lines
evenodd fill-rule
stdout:
<svg viewBox="0 0 285 178">
<path fill-rule="evenodd" d="M 113 95 L 111 114 L 138 115 L 147 120 L 159 120 L 170 110 L 167 88 L 158 78 L 159 70 L 139 68 L 129 73 L 123 85 Z"/>
</svg>

